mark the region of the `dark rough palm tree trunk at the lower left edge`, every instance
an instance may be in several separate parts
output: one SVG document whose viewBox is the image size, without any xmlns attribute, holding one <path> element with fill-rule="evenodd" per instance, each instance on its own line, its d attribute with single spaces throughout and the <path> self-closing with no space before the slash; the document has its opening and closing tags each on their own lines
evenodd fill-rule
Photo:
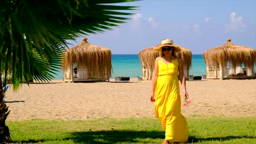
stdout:
<svg viewBox="0 0 256 144">
<path fill-rule="evenodd" d="M 5 120 L 10 111 L 8 111 L 8 107 L 3 100 L 4 92 L 1 83 L 2 81 L 0 81 L 0 143 L 3 143 L 5 141 L 11 141 L 11 137 L 9 128 L 5 125 Z"/>
</svg>

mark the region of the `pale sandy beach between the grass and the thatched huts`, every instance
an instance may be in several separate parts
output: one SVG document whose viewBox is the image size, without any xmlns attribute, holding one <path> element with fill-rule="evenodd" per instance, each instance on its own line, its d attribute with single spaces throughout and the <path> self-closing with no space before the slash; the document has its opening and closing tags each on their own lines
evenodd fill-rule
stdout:
<svg viewBox="0 0 256 144">
<path fill-rule="evenodd" d="M 10 87 L 4 99 L 11 110 L 7 121 L 154 118 L 154 103 L 149 101 L 151 84 L 137 79 L 111 79 L 23 84 L 16 92 Z M 183 106 L 181 102 L 185 117 L 256 117 L 256 79 L 187 81 L 187 92 L 192 103 Z"/>
</svg>

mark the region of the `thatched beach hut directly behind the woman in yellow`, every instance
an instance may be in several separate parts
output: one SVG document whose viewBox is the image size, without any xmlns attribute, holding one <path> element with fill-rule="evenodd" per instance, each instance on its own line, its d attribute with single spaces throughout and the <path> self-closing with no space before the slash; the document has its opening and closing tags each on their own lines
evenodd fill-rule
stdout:
<svg viewBox="0 0 256 144">
<path fill-rule="evenodd" d="M 160 53 L 156 50 L 154 50 L 155 47 L 152 46 L 146 49 L 142 49 L 139 52 L 139 59 L 141 61 L 141 67 L 142 67 L 142 79 L 143 80 L 152 80 L 154 75 L 154 60 L 160 56 Z M 177 56 L 182 59 L 184 62 L 184 75 L 186 79 L 189 78 L 189 69 L 191 66 L 192 61 L 192 53 L 189 49 L 186 49 L 184 47 L 181 47 L 181 52 L 178 52 Z"/>
</svg>

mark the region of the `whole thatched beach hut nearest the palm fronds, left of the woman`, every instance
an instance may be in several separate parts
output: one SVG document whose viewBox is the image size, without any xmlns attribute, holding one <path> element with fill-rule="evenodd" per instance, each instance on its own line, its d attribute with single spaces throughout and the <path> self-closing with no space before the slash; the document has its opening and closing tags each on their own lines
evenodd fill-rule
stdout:
<svg viewBox="0 0 256 144">
<path fill-rule="evenodd" d="M 102 81 L 111 78 L 111 50 L 95 46 L 82 38 L 82 43 L 67 49 L 62 69 L 64 82 Z"/>
</svg>

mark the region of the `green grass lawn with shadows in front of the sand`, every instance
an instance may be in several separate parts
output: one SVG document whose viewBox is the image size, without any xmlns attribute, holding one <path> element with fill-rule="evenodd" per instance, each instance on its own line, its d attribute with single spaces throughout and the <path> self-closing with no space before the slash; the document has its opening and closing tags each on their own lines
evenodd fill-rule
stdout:
<svg viewBox="0 0 256 144">
<path fill-rule="evenodd" d="M 256 144 L 256 117 L 187 118 L 188 143 Z M 91 121 L 7 121 L 13 143 L 161 144 L 164 131 L 156 118 L 101 118 Z"/>
</svg>

